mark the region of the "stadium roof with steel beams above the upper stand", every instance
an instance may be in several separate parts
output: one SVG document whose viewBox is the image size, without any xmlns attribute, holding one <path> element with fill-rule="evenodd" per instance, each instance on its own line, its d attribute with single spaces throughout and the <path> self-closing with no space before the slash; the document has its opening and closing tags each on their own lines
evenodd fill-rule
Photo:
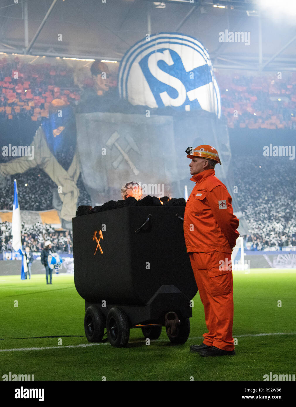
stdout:
<svg viewBox="0 0 296 407">
<path fill-rule="evenodd" d="M 147 33 L 171 31 L 199 39 L 215 68 L 296 70 L 295 16 L 271 15 L 263 0 L 14 1 L 0 6 L 2 53 L 120 61 Z M 219 42 L 221 32 L 245 42 Z"/>
</svg>

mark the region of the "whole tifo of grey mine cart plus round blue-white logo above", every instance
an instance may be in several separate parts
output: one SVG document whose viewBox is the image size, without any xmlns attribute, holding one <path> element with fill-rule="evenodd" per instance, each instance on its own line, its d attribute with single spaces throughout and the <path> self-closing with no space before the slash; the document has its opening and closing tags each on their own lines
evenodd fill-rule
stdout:
<svg viewBox="0 0 296 407">
<path fill-rule="evenodd" d="M 81 173 L 92 206 L 121 199 L 121 186 L 129 181 L 144 186 L 146 195 L 184 197 L 184 186 L 190 192 L 194 185 L 185 150 L 200 144 L 218 150 L 222 168 L 216 166 L 216 175 L 227 179 L 231 154 L 219 120 L 219 88 L 197 39 L 160 33 L 140 40 L 121 61 L 118 91 L 129 103 L 125 113 L 76 117 Z M 134 111 L 139 105 L 146 113 Z"/>
</svg>

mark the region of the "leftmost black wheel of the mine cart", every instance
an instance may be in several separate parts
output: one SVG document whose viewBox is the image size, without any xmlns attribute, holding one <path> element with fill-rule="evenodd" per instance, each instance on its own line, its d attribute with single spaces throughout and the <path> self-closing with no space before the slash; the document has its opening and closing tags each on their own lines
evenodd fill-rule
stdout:
<svg viewBox="0 0 296 407">
<path fill-rule="evenodd" d="M 84 331 L 89 342 L 101 342 L 104 335 L 104 315 L 95 305 L 90 305 L 84 317 Z"/>
</svg>

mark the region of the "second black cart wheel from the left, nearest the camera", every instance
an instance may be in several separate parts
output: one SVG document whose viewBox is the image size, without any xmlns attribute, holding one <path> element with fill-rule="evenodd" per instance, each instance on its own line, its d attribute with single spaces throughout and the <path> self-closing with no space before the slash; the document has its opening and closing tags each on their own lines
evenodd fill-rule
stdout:
<svg viewBox="0 0 296 407">
<path fill-rule="evenodd" d="M 107 336 L 115 348 L 124 348 L 129 341 L 129 319 L 126 313 L 118 306 L 110 309 L 107 315 Z"/>
</svg>

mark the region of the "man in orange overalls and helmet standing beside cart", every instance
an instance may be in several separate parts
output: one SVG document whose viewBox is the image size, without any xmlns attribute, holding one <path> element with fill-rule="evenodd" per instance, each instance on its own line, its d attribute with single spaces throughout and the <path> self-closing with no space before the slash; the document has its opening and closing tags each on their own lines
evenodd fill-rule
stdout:
<svg viewBox="0 0 296 407">
<path fill-rule="evenodd" d="M 186 202 L 184 238 L 208 328 L 203 344 L 190 350 L 204 357 L 235 355 L 231 252 L 239 220 L 226 186 L 215 177 L 214 167 L 221 165 L 217 150 L 201 145 L 186 153 L 196 184 Z"/>
</svg>

